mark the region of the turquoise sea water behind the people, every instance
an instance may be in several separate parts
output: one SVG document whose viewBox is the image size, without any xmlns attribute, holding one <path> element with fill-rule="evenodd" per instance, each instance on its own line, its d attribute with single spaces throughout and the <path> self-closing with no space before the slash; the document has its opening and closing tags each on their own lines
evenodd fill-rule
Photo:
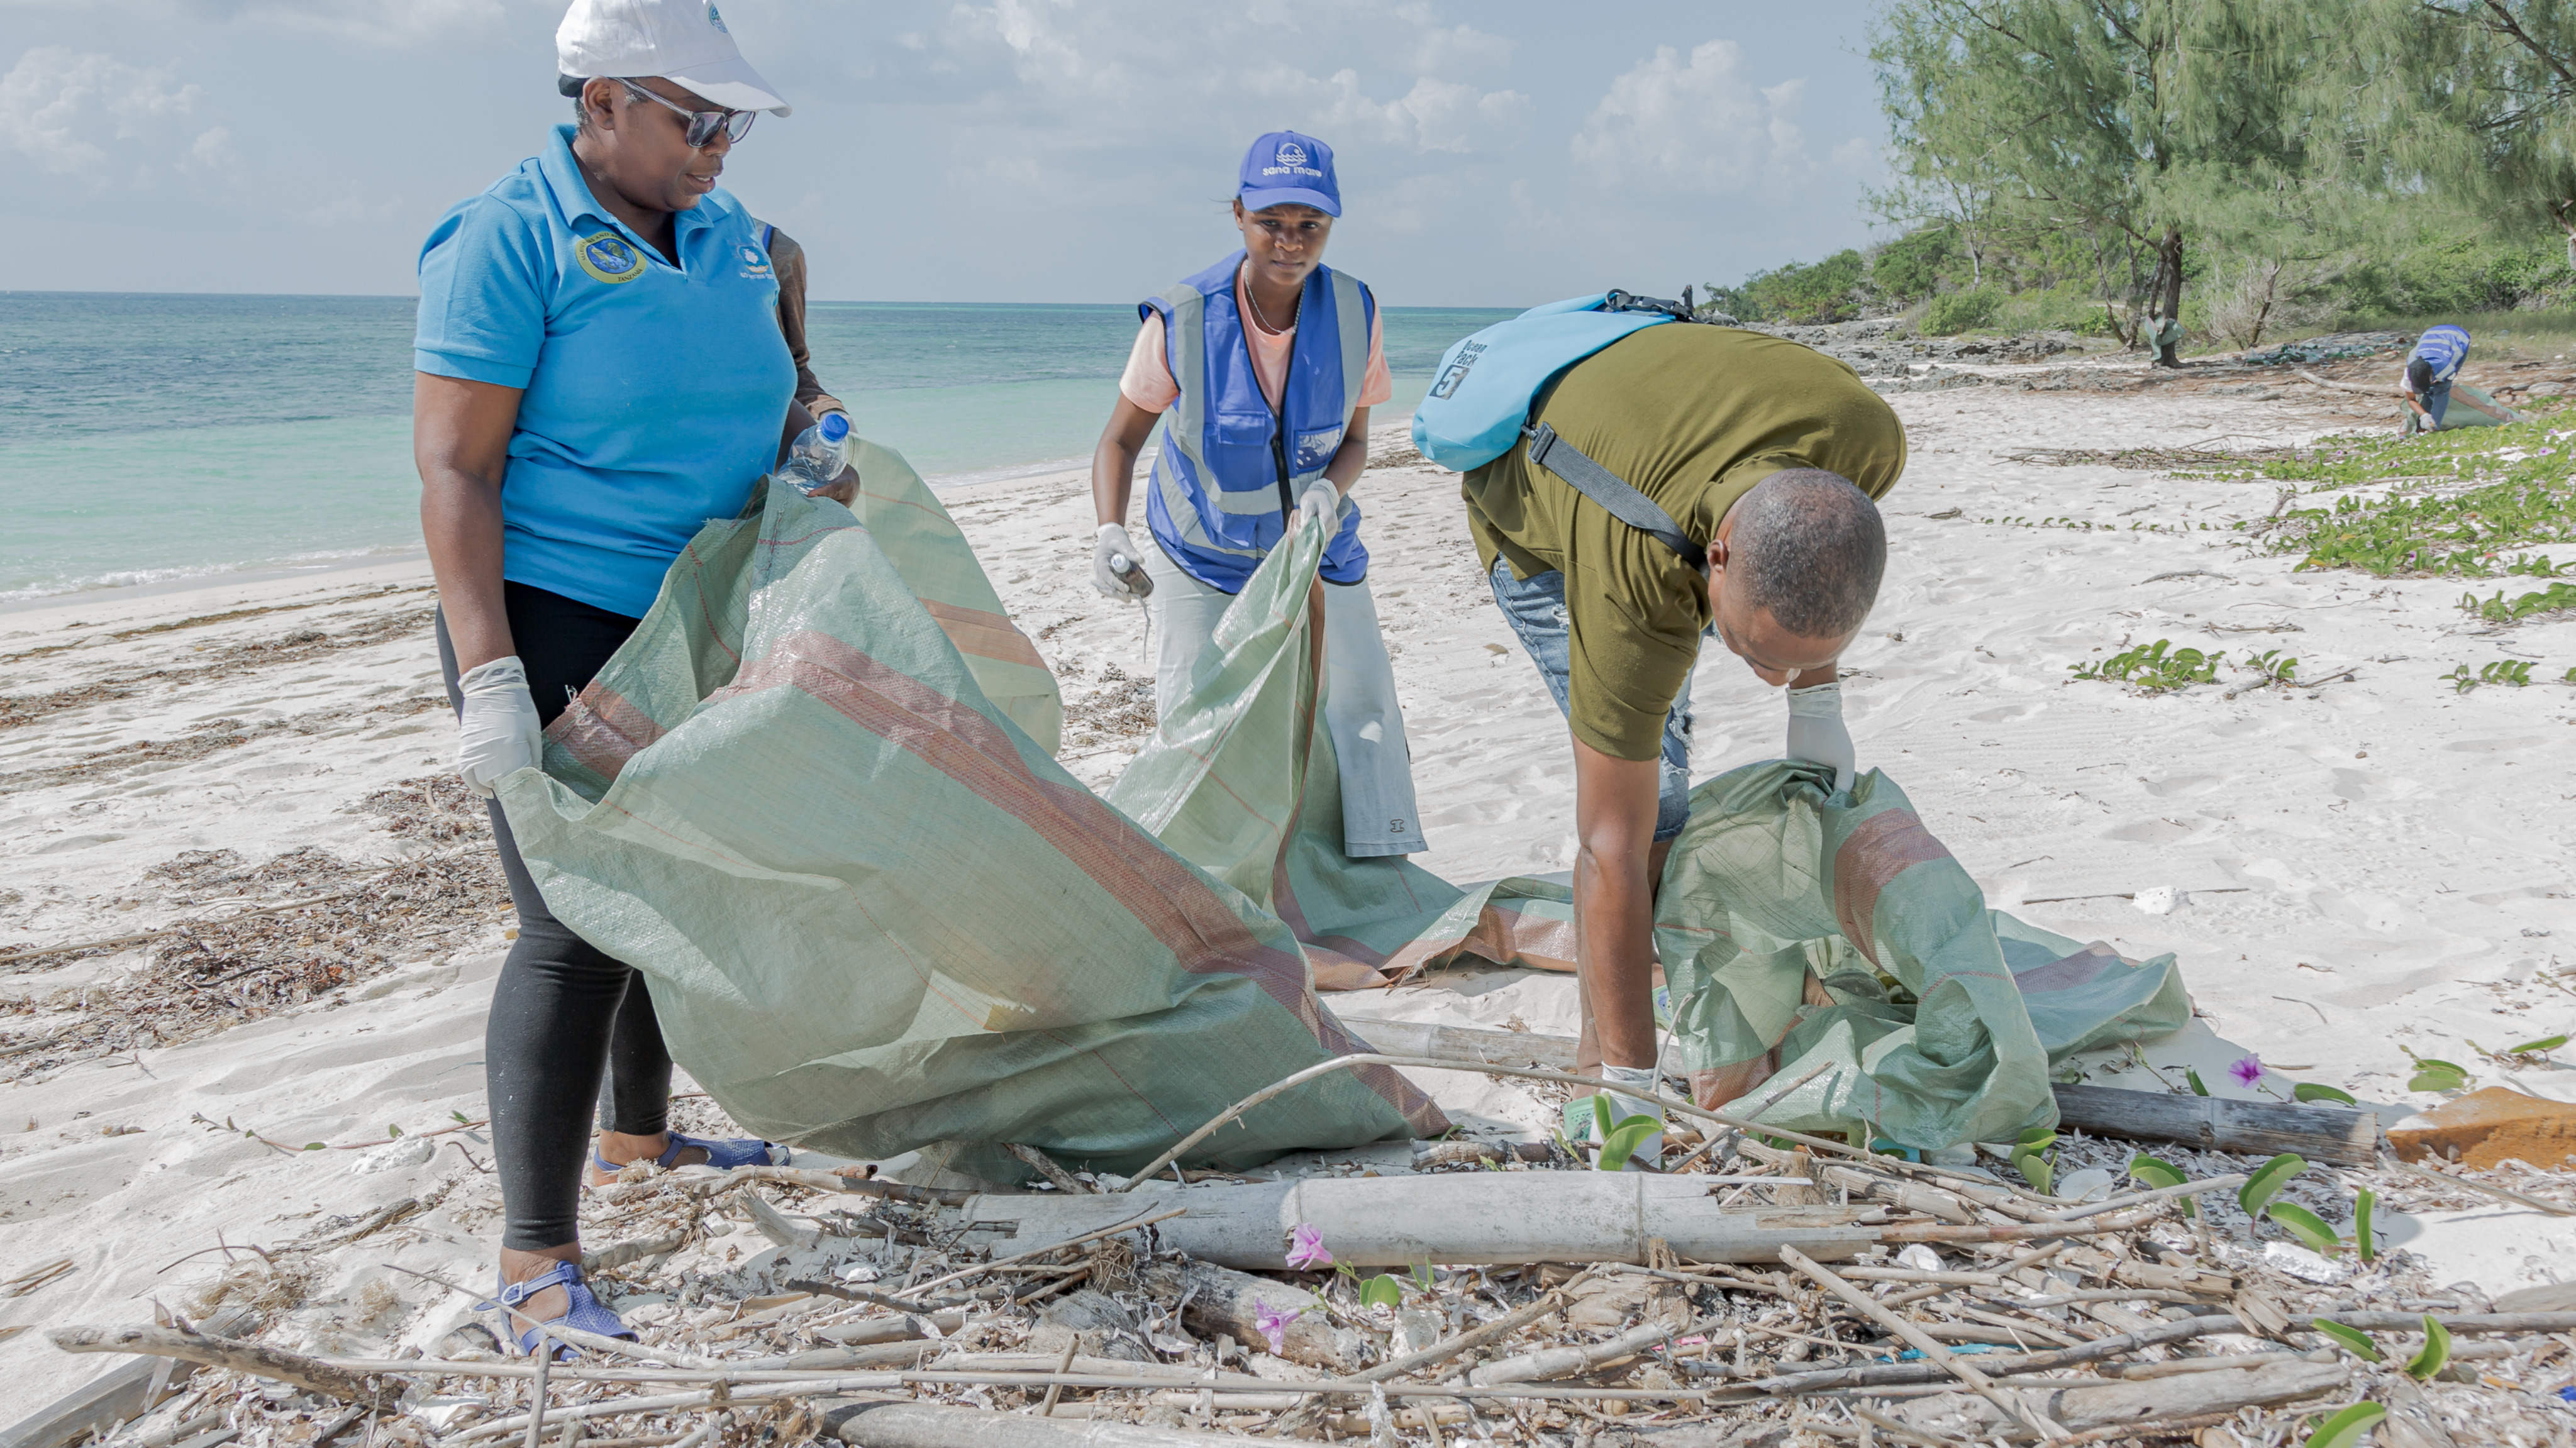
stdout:
<svg viewBox="0 0 2576 1448">
<path fill-rule="evenodd" d="M 1401 417 L 1510 312 L 1386 309 Z M 1087 459 L 1133 307 L 817 301 L 814 371 L 933 482 Z M 0 291 L 0 600 L 420 546 L 412 299 Z"/>
</svg>

